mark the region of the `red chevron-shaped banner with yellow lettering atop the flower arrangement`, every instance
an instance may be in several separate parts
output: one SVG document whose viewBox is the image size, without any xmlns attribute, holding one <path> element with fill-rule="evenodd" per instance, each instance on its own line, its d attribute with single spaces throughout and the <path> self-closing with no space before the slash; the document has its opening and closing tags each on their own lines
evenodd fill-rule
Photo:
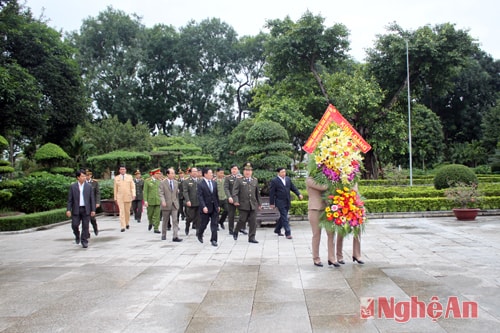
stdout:
<svg viewBox="0 0 500 333">
<path fill-rule="evenodd" d="M 372 148 L 370 144 L 366 142 L 354 129 L 354 127 L 352 127 L 352 125 L 340 114 L 339 110 L 330 104 L 326 108 L 323 117 L 321 117 L 302 149 L 304 149 L 305 152 L 312 154 L 332 122 L 339 125 L 339 127 L 352 139 L 352 141 L 363 153 L 368 152 Z"/>
</svg>

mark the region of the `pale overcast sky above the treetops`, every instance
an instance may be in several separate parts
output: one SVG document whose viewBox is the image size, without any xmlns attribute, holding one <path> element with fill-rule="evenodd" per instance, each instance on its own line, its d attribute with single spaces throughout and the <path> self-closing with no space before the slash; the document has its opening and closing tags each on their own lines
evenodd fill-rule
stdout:
<svg viewBox="0 0 500 333">
<path fill-rule="evenodd" d="M 297 21 L 309 10 L 324 17 L 326 26 L 343 23 L 350 30 L 350 54 L 358 61 L 363 61 L 364 50 L 373 46 L 377 34 L 386 33 L 391 22 L 405 30 L 449 22 L 457 29 L 469 30 L 482 50 L 500 58 L 498 0 L 26 0 L 26 5 L 35 17 L 44 8 L 48 24 L 64 31 L 79 30 L 83 19 L 96 17 L 112 6 L 139 15 L 147 27 L 163 23 L 179 28 L 190 20 L 215 17 L 232 26 L 239 36 L 267 32 L 264 25 L 268 19 L 288 15 Z"/>
</svg>

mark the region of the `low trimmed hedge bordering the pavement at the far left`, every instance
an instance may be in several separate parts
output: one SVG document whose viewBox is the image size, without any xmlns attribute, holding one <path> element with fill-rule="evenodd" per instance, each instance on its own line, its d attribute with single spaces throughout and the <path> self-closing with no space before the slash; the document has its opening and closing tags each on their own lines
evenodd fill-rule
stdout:
<svg viewBox="0 0 500 333">
<path fill-rule="evenodd" d="M 0 231 L 24 230 L 68 220 L 66 208 L 0 218 Z"/>
</svg>

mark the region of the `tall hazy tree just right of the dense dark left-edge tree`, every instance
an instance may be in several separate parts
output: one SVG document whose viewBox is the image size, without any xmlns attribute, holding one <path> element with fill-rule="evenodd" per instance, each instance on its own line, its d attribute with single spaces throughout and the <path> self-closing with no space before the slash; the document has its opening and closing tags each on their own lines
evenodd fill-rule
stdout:
<svg viewBox="0 0 500 333">
<path fill-rule="evenodd" d="M 96 116 L 117 116 L 132 124 L 141 120 L 137 110 L 143 31 L 135 14 L 108 7 L 84 20 L 79 34 L 71 35 Z"/>
</svg>

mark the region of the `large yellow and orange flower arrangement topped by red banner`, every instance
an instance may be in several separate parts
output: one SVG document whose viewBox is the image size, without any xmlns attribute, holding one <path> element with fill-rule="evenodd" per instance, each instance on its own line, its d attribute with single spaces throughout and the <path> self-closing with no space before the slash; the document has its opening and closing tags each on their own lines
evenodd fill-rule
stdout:
<svg viewBox="0 0 500 333">
<path fill-rule="evenodd" d="M 358 236 L 366 222 L 364 202 L 357 189 L 363 157 L 370 145 L 330 105 L 306 143 L 311 154 L 309 174 L 328 186 L 320 226 L 342 236 Z"/>
</svg>

